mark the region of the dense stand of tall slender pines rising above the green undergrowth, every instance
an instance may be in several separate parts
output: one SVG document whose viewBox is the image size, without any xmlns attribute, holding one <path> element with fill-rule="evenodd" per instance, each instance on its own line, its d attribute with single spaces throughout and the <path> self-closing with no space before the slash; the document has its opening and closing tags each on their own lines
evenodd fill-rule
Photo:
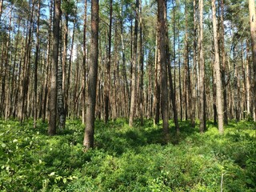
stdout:
<svg viewBox="0 0 256 192">
<path fill-rule="evenodd" d="M 92 134 L 94 116 L 162 118 L 166 134 L 169 118 L 221 134 L 255 120 L 249 2 L 1 0 L 0 115 L 49 120 L 49 134 L 66 118 Z"/>
</svg>

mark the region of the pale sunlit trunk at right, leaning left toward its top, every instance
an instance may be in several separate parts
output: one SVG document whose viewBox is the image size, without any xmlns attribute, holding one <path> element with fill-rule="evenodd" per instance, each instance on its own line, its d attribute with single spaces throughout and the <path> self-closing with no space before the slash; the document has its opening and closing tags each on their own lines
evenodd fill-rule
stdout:
<svg viewBox="0 0 256 192">
<path fill-rule="evenodd" d="M 216 7 L 215 0 L 211 2 L 212 13 L 213 13 L 213 30 L 214 30 L 214 70 L 216 77 L 216 100 L 217 100 L 217 111 L 218 111 L 218 131 L 223 134 L 223 109 L 222 109 L 222 80 L 221 71 L 219 64 L 219 53 L 218 53 L 218 32 L 217 32 L 217 19 L 216 19 Z"/>
</svg>

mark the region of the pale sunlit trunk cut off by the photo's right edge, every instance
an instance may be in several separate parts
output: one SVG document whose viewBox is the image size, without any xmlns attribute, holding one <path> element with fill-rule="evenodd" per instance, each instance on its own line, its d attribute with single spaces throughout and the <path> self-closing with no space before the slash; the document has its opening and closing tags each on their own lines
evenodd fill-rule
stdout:
<svg viewBox="0 0 256 192">
<path fill-rule="evenodd" d="M 254 69 L 254 122 L 256 122 L 256 15 L 255 15 L 255 3 L 254 0 L 249 1 L 249 13 L 250 13 L 250 40 L 251 50 L 253 56 L 253 69 Z"/>
</svg>

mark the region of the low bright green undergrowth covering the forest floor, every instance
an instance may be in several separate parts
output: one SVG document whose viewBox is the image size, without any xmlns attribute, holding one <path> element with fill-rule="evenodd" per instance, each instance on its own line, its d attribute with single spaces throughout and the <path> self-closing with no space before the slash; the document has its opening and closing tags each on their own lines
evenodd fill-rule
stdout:
<svg viewBox="0 0 256 192">
<path fill-rule="evenodd" d="M 0 191 L 256 191 L 256 129 L 230 122 L 220 136 L 180 122 L 170 142 L 152 120 L 95 125 L 95 149 L 83 152 L 84 126 L 47 135 L 46 123 L 0 121 Z M 222 184 L 221 184 L 222 183 Z"/>
</svg>

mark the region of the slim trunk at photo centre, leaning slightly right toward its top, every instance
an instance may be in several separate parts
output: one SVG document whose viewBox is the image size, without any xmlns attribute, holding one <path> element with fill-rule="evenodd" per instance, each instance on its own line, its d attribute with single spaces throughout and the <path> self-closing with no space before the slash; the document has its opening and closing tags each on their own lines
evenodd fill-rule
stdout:
<svg viewBox="0 0 256 192">
<path fill-rule="evenodd" d="M 132 55 L 132 78 L 131 78 L 131 94 L 130 94 L 130 117 L 129 126 L 134 124 L 134 112 L 135 112 L 135 97 L 136 97 L 136 62 L 137 62 L 137 42 L 138 42 L 138 5 L 139 1 L 136 0 L 136 12 L 135 12 L 135 26 L 134 26 L 134 47 Z"/>
</svg>

